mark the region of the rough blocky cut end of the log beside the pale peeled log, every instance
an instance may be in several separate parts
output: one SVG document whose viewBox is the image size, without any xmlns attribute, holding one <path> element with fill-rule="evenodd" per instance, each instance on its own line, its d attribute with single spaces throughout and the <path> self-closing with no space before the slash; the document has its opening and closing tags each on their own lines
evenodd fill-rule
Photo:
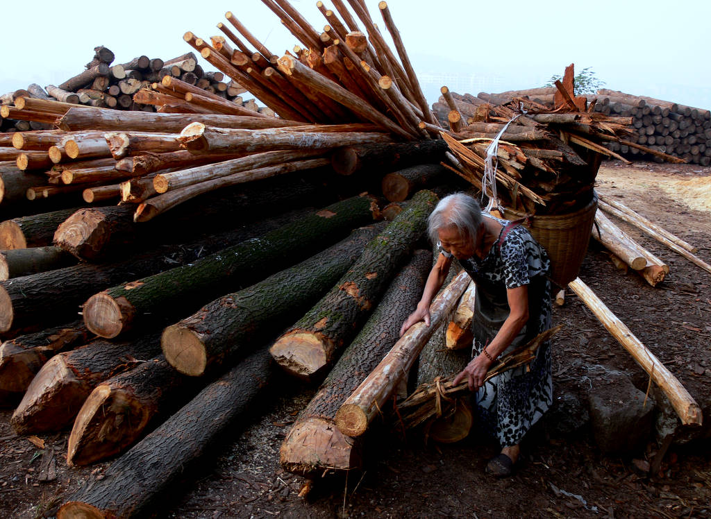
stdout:
<svg viewBox="0 0 711 519">
<path fill-rule="evenodd" d="M 333 422 L 320 418 L 294 424 L 279 450 L 284 470 L 316 476 L 325 470 L 358 469 L 362 464 L 360 442 L 345 436 Z"/>
</svg>

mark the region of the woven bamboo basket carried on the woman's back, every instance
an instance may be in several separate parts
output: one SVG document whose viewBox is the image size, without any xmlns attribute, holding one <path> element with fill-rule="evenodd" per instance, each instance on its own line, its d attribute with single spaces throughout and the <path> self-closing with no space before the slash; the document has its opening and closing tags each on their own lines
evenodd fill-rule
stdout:
<svg viewBox="0 0 711 519">
<path fill-rule="evenodd" d="M 525 218 L 525 225 L 550 258 L 550 279 L 565 288 L 577 277 L 587 252 L 597 210 L 597 193 L 582 209 L 560 215 L 528 216 L 518 210 L 506 208 L 507 220 Z M 526 218 L 528 216 L 528 218 Z"/>
</svg>

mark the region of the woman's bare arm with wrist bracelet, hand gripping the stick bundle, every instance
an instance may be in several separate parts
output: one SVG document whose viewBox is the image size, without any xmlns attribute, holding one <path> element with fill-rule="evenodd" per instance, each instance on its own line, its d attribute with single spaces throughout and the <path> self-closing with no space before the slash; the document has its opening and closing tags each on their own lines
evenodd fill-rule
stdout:
<svg viewBox="0 0 711 519">
<path fill-rule="evenodd" d="M 503 321 L 493 341 L 484 347 L 484 351 L 476 355 L 466 368 L 456 375 L 454 385 L 466 379 L 469 382 L 469 390 L 478 390 L 483 385 L 486 372 L 493 364 L 493 360 L 508 348 L 528 322 L 528 285 L 506 289 L 506 298 L 510 308 L 506 321 Z M 484 352 L 488 353 L 491 359 Z"/>
</svg>

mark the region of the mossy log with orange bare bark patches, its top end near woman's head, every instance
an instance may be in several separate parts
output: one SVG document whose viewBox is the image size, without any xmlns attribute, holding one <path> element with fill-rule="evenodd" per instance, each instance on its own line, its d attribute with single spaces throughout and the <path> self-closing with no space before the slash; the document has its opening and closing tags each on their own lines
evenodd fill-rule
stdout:
<svg viewBox="0 0 711 519">
<path fill-rule="evenodd" d="M 436 203 L 431 191 L 417 193 L 331 291 L 274 343 L 269 351 L 282 368 L 312 380 L 336 360 L 424 235 Z"/>
</svg>

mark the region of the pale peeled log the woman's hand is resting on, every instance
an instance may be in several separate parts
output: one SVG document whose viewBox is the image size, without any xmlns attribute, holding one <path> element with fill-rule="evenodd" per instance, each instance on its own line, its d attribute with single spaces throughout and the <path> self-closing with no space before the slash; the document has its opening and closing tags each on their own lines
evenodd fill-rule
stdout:
<svg viewBox="0 0 711 519">
<path fill-rule="evenodd" d="M 429 307 L 429 326 L 424 323 L 412 326 L 385 355 L 378 367 L 363 380 L 346 402 L 343 402 L 336 413 L 336 426 L 343 434 L 357 437 L 365 433 L 368 424 L 373 422 L 380 409 L 385 407 L 385 402 L 392 397 L 395 388 L 412 368 L 425 343 L 449 315 L 449 311 L 454 308 L 470 281 L 471 278 L 466 272 L 457 275 L 432 301 Z"/>
</svg>

